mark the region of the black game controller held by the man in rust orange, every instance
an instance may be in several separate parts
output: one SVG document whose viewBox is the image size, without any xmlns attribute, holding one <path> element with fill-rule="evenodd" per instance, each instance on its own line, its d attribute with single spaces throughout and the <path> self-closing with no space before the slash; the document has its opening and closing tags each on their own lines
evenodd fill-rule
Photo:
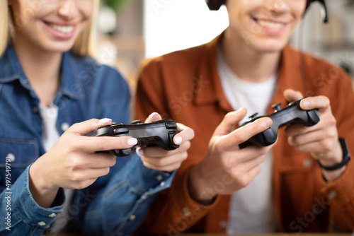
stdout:
<svg viewBox="0 0 354 236">
<path fill-rule="evenodd" d="M 258 113 L 251 115 L 251 117 L 249 117 L 251 120 L 241 124 L 241 126 L 245 126 L 246 124 L 254 122 L 256 119 L 260 119 L 262 117 L 269 117 L 273 120 L 273 124 L 265 131 L 256 134 L 244 143 L 239 144 L 239 147 L 246 148 L 252 144 L 259 146 L 270 146 L 277 140 L 278 129 L 287 124 L 314 126 L 315 124 L 319 123 L 319 110 L 302 110 L 300 107 L 300 102 L 302 99 L 295 102 L 290 102 L 289 105 L 283 109 L 280 108 L 281 103 L 273 105 L 272 108 L 275 109 L 273 114 L 268 114 L 260 117 L 257 117 Z"/>
</svg>

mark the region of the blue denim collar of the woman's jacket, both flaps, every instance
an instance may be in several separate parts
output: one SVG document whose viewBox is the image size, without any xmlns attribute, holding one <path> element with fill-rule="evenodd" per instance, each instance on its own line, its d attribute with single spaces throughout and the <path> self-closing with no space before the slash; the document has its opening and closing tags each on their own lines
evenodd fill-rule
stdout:
<svg viewBox="0 0 354 236">
<path fill-rule="evenodd" d="M 80 71 L 76 68 L 76 64 L 73 63 L 73 57 L 70 52 L 64 52 L 63 54 L 61 85 L 55 100 L 62 95 L 71 99 L 84 97 L 83 84 L 79 80 Z M 4 55 L 0 58 L 0 83 L 10 83 L 16 80 L 20 81 L 23 87 L 33 91 L 18 60 L 15 49 L 12 45 L 8 45 Z"/>
</svg>

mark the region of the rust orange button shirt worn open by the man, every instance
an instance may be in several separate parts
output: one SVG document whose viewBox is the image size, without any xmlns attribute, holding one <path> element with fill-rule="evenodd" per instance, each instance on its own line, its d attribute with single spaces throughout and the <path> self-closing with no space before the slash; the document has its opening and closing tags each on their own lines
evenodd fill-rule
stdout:
<svg viewBox="0 0 354 236">
<path fill-rule="evenodd" d="M 206 45 L 149 59 L 142 64 L 136 94 L 136 118 L 152 112 L 181 122 L 195 131 L 188 159 L 178 170 L 170 189 L 152 205 L 139 232 L 174 235 L 177 232 L 225 232 L 229 195 L 204 206 L 188 194 L 190 167 L 207 152 L 209 140 L 227 112 L 232 111 L 217 73 L 217 44 Z M 354 93 L 349 76 L 326 61 L 300 54 L 287 46 L 282 51 L 275 94 L 270 104 L 287 102 L 287 88 L 306 95 L 326 95 L 337 121 L 338 135 L 354 151 Z M 302 66 L 304 72 L 302 73 Z M 302 75 L 306 80 L 304 85 Z M 304 88 L 307 87 L 305 93 Z M 267 114 L 273 113 L 269 108 Z M 222 181 L 222 180 L 221 180 Z M 326 182 L 308 153 L 297 153 L 278 131 L 273 148 L 273 203 L 280 231 L 320 232 L 354 228 L 354 161 L 335 182 Z M 249 219 L 252 220 L 252 219 Z"/>
</svg>

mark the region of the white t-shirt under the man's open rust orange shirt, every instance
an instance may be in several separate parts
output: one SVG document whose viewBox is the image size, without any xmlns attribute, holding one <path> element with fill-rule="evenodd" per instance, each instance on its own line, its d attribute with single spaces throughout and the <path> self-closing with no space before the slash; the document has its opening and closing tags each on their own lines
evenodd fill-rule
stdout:
<svg viewBox="0 0 354 236">
<path fill-rule="evenodd" d="M 240 124 L 248 121 L 251 114 L 265 114 L 273 97 L 277 75 L 262 83 L 242 81 L 224 61 L 221 50 L 217 54 L 217 69 L 230 105 L 234 110 L 247 108 L 246 117 Z M 228 234 L 276 232 L 272 201 L 272 162 L 271 153 L 266 153 L 265 160 L 261 163 L 261 172 L 246 188 L 232 194 L 227 222 Z"/>
</svg>

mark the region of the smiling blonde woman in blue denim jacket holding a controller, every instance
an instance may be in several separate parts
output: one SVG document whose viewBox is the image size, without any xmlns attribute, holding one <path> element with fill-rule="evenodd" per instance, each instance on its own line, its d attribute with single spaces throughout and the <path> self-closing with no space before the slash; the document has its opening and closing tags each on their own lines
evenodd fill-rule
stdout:
<svg viewBox="0 0 354 236">
<path fill-rule="evenodd" d="M 100 151 L 130 148 L 136 138 L 87 136 L 111 122 L 93 117 L 127 124 L 130 116 L 125 80 L 89 57 L 98 0 L 1 5 L 1 235 L 41 235 L 62 212 L 63 188 L 83 189 L 66 216 L 77 229 L 132 232 L 153 199 L 147 196 L 169 187 L 169 172 L 186 158 L 193 131 L 179 124 L 175 151 L 141 151 L 145 165 L 166 172 L 144 167 L 137 156 L 116 164 L 115 156 Z M 154 113 L 147 122 L 156 119 Z M 91 211 L 105 215 L 95 219 Z M 125 224 L 131 216 L 135 220 Z"/>
</svg>

